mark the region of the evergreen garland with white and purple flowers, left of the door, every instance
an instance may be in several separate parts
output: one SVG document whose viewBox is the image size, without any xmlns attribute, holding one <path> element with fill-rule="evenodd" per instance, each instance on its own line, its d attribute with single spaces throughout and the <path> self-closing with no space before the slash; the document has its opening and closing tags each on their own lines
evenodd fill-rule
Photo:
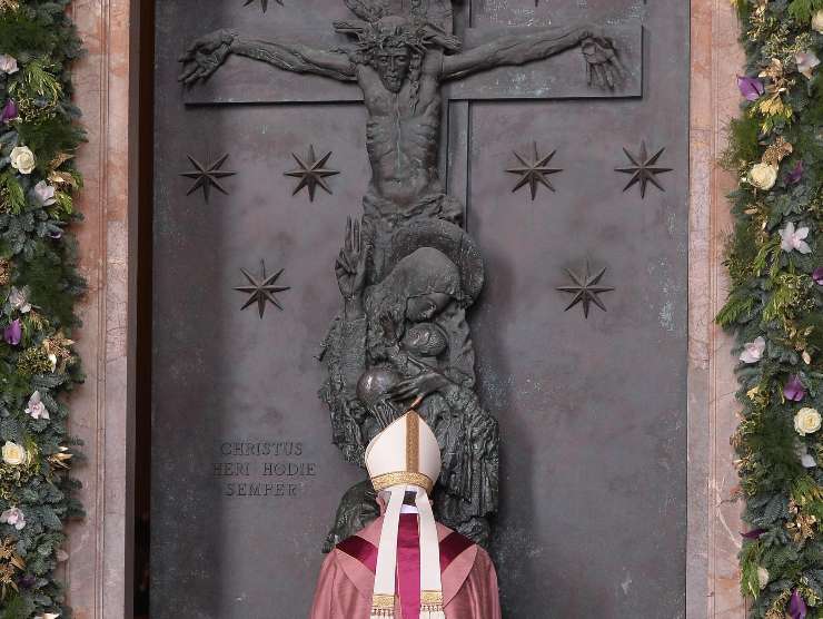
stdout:
<svg viewBox="0 0 823 619">
<path fill-rule="evenodd" d="M 82 514 L 63 401 L 82 379 L 69 2 L 0 0 L 0 619 L 70 617 L 54 570 Z"/>
</svg>

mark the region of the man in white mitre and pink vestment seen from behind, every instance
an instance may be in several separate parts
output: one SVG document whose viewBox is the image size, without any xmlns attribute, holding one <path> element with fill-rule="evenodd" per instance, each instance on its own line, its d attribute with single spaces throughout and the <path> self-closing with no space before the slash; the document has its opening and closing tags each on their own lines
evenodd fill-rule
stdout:
<svg viewBox="0 0 823 619">
<path fill-rule="evenodd" d="M 440 450 L 426 422 L 412 410 L 389 424 L 366 468 L 383 515 L 328 554 L 310 619 L 500 619 L 486 551 L 435 522 Z"/>
</svg>

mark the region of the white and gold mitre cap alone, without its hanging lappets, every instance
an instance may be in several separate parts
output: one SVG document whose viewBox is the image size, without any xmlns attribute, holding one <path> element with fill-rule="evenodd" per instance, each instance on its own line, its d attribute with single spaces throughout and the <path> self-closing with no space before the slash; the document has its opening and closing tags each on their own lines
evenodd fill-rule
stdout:
<svg viewBox="0 0 823 619">
<path fill-rule="evenodd" d="M 440 448 L 428 424 L 409 411 L 366 448 L 366 469 L 377 492 L 417 485 L 432 493 L 440 474 Z"/>
</svg>

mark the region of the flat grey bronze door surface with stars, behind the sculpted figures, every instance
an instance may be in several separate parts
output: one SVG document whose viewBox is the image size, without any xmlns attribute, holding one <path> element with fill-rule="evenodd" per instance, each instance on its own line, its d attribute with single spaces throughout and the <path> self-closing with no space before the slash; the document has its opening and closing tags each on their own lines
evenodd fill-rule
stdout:
<svg viewBox="0 0 823 619">
<path fill-rule="evenodd" d="M 454 4 L 468 49 L 588 21 L 625 73 L 589 86 L 574 47 L 442 87 L 443 193 L 485 263 L 468 324 L 499 423 L 504 617 L 683 617 L 688 8 Z M 338 0 L 157 2 L 157 619 L 306 617 L 340 498 L 365 479 L 317 392 L 346 220 L 374 195 L 373 110 L 353 81 L 240 53 L 177 81 L 219 29 L 336 50 L 350 39 L 331 24 L 351 19 Z"/>
</svg>

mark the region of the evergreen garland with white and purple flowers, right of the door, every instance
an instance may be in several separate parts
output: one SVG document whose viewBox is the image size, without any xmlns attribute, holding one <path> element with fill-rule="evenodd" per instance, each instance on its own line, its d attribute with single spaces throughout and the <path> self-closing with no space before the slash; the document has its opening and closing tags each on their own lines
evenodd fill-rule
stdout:
<svg viewBox="0 0 823 619">
<path fill-rule="evenodd" d="M 731 292 L 751 616 L 823 618 L 823 0 L 733 0 L 743 114 L 724 163 L 740 175 Z"/>
</svg>

